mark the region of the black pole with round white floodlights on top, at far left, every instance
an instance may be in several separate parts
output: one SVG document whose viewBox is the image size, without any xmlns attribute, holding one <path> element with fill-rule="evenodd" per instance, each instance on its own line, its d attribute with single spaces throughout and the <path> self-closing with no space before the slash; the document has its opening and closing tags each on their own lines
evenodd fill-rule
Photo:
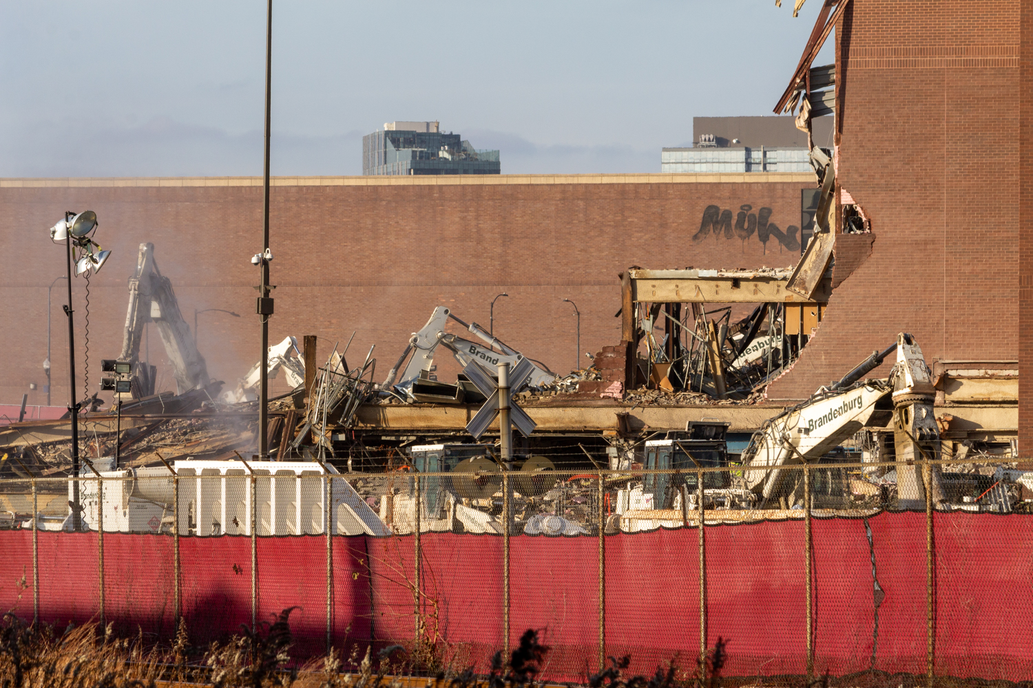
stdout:
<svg viewBox="0 0 1033 688">
<path fill-rule="evenodd" d="M 83 212 L 65 211 L 64 220 L 59 220 L 51 227 L 51 240 L 55 243 L 64 241 L 68 274 L 68 303 L 64 305 L 68 316 L 68 415 L 71 417 L 71 474 L 72 493 L 71 507 L 72 530 L 81 529 L 82 507 L 79 504 L 79 407 L 75 402 L 75 327 L 71 308 L 71 264 L 72 244 L 75 244 L 75 275 L 89 274 L 90 270 L 97 272 L 111 256 L 111 251 L 102 251 L 100 244 L 90 236 L 97 229 L 97 214 L 93 210 Z M 57 280 L 55 280 L 57 282 Z M 50 360 L 50 357 L 48 357 Z"/>
</svg>

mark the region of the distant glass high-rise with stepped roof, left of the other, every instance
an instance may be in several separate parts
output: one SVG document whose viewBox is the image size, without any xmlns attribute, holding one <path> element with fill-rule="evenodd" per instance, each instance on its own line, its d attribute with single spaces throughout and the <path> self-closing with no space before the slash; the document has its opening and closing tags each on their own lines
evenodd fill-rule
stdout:
<svg viewBox="0 0 1033 688">
<path fill-rule="evenodd" d="M 438 122 L 388 122 L 363 136 L 363 174 L 500 174 L 498 151 L 477 151 Z"/>
</svg>

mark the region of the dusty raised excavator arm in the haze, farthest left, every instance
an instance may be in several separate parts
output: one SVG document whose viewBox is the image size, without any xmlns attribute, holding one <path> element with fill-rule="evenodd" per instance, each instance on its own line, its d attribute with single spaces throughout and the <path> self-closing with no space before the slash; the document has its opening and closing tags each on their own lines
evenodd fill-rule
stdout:
<svg viewBox="0 0 1033 688">
<path fill-rule="evenodd" d="M 137 365 L 144 325 L 147 323 L 154 323 L 158 328 L 176 376 L 176 393 L 185 394 L 208 387 L 210 381 L 205 358 L 197 352 L 190 328 L 180 314 L 173 283 L 158 270 L 153 243 L 139 244 L 136 272 L 129 277 L 129 308 L 122 353 L 118 358 L 132 366 L 135 397 L 149 396 L 156 391 L 152 366 Z"/>
</svg>

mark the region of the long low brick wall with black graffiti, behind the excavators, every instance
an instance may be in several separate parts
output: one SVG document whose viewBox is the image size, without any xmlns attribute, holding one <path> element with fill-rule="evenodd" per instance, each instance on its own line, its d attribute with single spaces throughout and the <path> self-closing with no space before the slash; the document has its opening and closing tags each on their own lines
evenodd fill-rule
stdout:
<svg viewBox="0 0 1033 688">
<path fill-rule="evenodd" d="M 278 178 L 272 191 L 272 283 L 276 315 L 271 340 L 316 334 L 320 358 L 355 331 L 349 361 L 376 345 L 382 380 L 411 332 L 436 305 L 467 322 L 489 325 L 507 343 L 558 372 L 585 352 L 621 337 L 618 272 L 630 265 L 755 267 L 793 265 L 791 251 L 772 237 L 697 236 L 708 205 L 773 208 L 782 230 L 800 225 L 800 192 L 809 174 L 608 175 L 491 177 Z M 212 375 L 227 383 L 260 354 L 252 289 L 260 251 L 260 179 L 0 181 L 0 272 L 4 298 L 4 366 L 0 402 L 18 403 L 30 383 L 29 403 L 45 403 L 41 363 L 46 355 L 46 287 L 65 273 L 64 249 L 48 228 L 66 209 L 91 208 L 96 238 L 113 256 L 90 287 L 90 387 L 100 381 L 100 359 L 121 350 L 126 279 L 142 241 L 155 244 L 187 322 L 200 314 L 199 349 Z M 694 237 L 696 237 L 694 239 Z M 799 231 L 796 233 L 799 238 Z M 73 280 L 82 390 L 85 280 Z M 67 403 L 67 330 L 61 304 L 64 282 L 53 291 L 52 403 Z M 581 355 L 573 308 L 582 312 Z M 150 334 L 159 387 L 173 389 L 157 332 Z M 453 379 L 451 359 L 438 358 L 442 379 Z M 273 392 L 283 391 L 282 379 Z"/>
</svg>

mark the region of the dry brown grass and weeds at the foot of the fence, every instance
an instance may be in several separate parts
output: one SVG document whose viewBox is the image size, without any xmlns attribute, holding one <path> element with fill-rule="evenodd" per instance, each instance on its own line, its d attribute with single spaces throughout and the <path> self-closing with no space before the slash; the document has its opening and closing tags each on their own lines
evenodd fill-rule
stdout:
<svg viewBox="0 0 1033 688">
<path fill-rule="evenodd" d="M 426 685 L 438 688 L 544 686 L 538 676 L 549 648 L 538 643 L 533 630 L 524 633 L 509 657 L 496 653 L 488 676 L 476 676 L 472 668 L 440 668 L 445 662 L 430 656 L 433 649 L 428 646 L 392 646 L 375 658 L 367 647 L 358 670 L 351 674 L 341 673 L 343 662 L 333 650 L 299 667 L 289 655 L 291 611 L 284 610 L 254 629 L 243 626 L 240 635 L 204 649 L 190 647 L 182 622 L 171 647 L 160 647 L 146 644 L 143 633 L 114 637 L 111 625 L 101 628 L 91 623 L 57 632 L 7 614 L 0 623 L 0 688 L 403 688 L 395 678 L 402 673 L 419 673 L 428 677 Z M 658 668 L 652 678 L 626 677 L 627 657 L 612 659 L 609 668 L 585 678 L 590 688 L 715 688 L 723 656 L 719 644 L 707 670 L 688 680 L 677 678 L 674 664 Z M 356 659 L 353 653 L 348 664 L 354 666 Z M 428 665 L 438 669 L 428 671 Z"/>
</svg>

